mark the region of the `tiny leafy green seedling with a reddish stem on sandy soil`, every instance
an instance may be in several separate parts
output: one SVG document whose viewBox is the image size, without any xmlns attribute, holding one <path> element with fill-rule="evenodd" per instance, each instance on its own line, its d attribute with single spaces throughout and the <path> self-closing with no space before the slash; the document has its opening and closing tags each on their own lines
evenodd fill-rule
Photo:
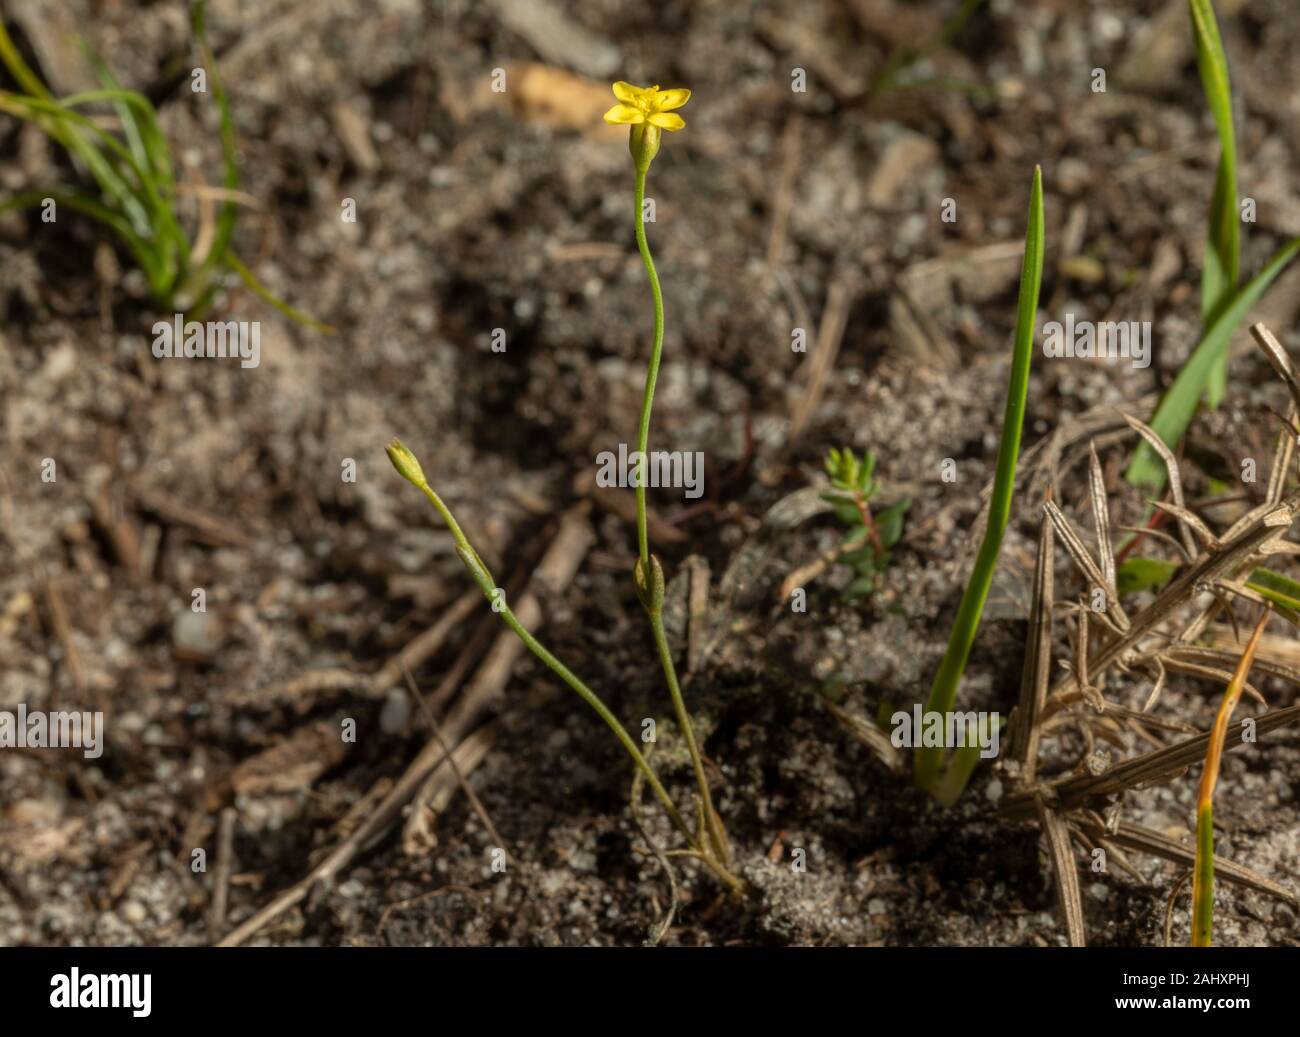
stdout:
<svg viewBox="0 0 1300 1037">
<path fill-rule="evenodd" d="M 844 598 L 863 598 L 876 591 L 889 564 L 889 548 L 902 538 L 902 520 L 910 500 L 898 500 L 871 513 L 871 498 L 880 483 L 875 480 L 876 455 L 867 451 L 858 457 L 850 448 L 831 448 L 826 455 L 826 473 L 831 489 L 822 498 L 831 504 L 836 517 L 849 531 L 841 544 L 840 561 L 854 572 L 853 582 L 844 589 Z"/>
</svg>

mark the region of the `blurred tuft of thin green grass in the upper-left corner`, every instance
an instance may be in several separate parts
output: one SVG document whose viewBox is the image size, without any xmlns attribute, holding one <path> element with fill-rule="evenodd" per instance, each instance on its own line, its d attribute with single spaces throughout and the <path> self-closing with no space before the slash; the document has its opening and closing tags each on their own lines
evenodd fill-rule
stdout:
<svg viewBox="0 0 1300 1037">
<path fill-rule="evenodd" d="M 212 304 L 228 273 L 237 274 L 263 301 L 289 318 L 330 333 L 320 324 L 276 298 L 243 264 L 231 246 L 240 204 L 239 166 L 230 101 L 204 29 L 204 3 L 191 9 L 191 27 L 208 73 L 208 83 L 220 117 L 224 179 L 218 188 L 202 188 L 200 204 L 218 200 L 216 216 L 200 221 L 191 234 L 178 213 L 181 195 L 192 190 L 179 185 L 172 161 L 172 146 L 162 133 L 159 113 L 143 94 L 126 90 L 108 65 L 91 55 L 100 90 L 55 97 L 40 77 L 23 61 L 0 19 L 0 64 L 22 92 L 0 90 L 0 112 L 36 126 L 68 152 L 96 191 L 78 187 L 46 187 L 22 191 L 0 200 L 0 212 L 47 205 L 66 207 L 98 221 L 126 246 L 144 273 L 150 294 L 164 311 L 183 311 L 198 317 Z M 112 110 L 120 134 L 103 129 L 83 109 Z"/>
</svg>

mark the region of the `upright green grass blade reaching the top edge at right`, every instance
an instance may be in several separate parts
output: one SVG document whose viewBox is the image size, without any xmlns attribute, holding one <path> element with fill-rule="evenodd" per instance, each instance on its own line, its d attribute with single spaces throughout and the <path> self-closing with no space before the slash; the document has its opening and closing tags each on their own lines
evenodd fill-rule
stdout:
<svg viewBox="0 0 1300 1037">
<path fill-rule="evenodd" d="M 1236 212 L 1236 131 L 1232 126 L 1232 88 L 1227 53 L 1218 31 L 1212 0 L 1188 0 L 1192 34 L 1196 39 L 1196 65 L 1201 74 L 1205 100 L 1214 116 L 1219 138 L 1219 161 L 1214 173 L 1214 195 L 1201 268 L 1201 326 L 1208 327 L 1236 291 L 1242 256 L 1242 221 Z M 1208 399 L 1217 408 L 1227 391 L 1227 351 L 1210 368 Z"/>
</svg>

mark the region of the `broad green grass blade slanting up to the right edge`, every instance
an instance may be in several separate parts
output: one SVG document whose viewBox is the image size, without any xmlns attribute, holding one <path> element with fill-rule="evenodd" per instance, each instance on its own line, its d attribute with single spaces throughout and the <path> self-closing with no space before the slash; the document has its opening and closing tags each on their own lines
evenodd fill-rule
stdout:
<svg viewBox="0 0 1300 1037">
<path fill-rule="evenodd" d="M 1210 372 L 1218 357 L 1227 352 L 1236 326 L 1297 253 L 1300 253 L 1300 238 L 1295 238 L 1279 248 L 1264 269 L 1238 290 L 1231 303 L 1201 335 L 1201 340 L 1196 344 L 1183 369 L 1178 372 L 1178 377 L 1165 392 L 1160 407 L 1156 408 L 1156 416 L 1150 421 L 1150 426 L 1165 443 L 1173 447 L 1183 438 L 1183 433 L 1187 431 L 1187 426 L 1192 421 L 1192 415 L 1196 413 L 1196 405 L 1200 403 Z M 1124 478 L 1134 486 L 1140 486 L 1153 494 L 1164 489 L 1165 465 L 1149 443 L 1141 443 L 1138 447 Z"/>
</svg>

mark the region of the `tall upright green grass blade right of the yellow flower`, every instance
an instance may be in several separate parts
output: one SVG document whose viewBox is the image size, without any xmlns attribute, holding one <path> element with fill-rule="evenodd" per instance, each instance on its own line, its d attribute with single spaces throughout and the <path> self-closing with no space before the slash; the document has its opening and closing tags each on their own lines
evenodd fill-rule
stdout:
<svg viewBox="0 0 1300 1037">
<path fill-rule="evenodd" d="M 926 710 L 948 713 L 957 700 L 979 621 L 984 613 L 984 600 L 993 582 L 993 569 L 1002 547 L 1002 534 L 1011 516 L 1011 494 L 1015 489 L 1015 463 L 1020 452 L 1020 431 L 1024 425 L 1024 399 L 1030 387 L 1030 363 L 1034 359 L 1034 330 L 1039 308 L 1039 290 L 1043 285 L 1043 169 L 1034 170 L 1030 191 L 1028 227 L 1024 234 L 1024 261 L 1020 268 L 1020 294 L 1015 316 L 1015 346 L 1011 355 L 1011 377 L 1006 387 L 1006 413 L 1002 417 L 1002 442 L 997 451 L 997 473 L 993 478 L 993 496 L 989 500 L 988 526 L 980 543 L 975 568 L 962 594 L 957 619 L 948 638 L 948 650 L 935 674 Z M 933 786 L 944 759 L 940 747 L 916 750 L 915 782 L 922 789 Z"/>
</svg>

